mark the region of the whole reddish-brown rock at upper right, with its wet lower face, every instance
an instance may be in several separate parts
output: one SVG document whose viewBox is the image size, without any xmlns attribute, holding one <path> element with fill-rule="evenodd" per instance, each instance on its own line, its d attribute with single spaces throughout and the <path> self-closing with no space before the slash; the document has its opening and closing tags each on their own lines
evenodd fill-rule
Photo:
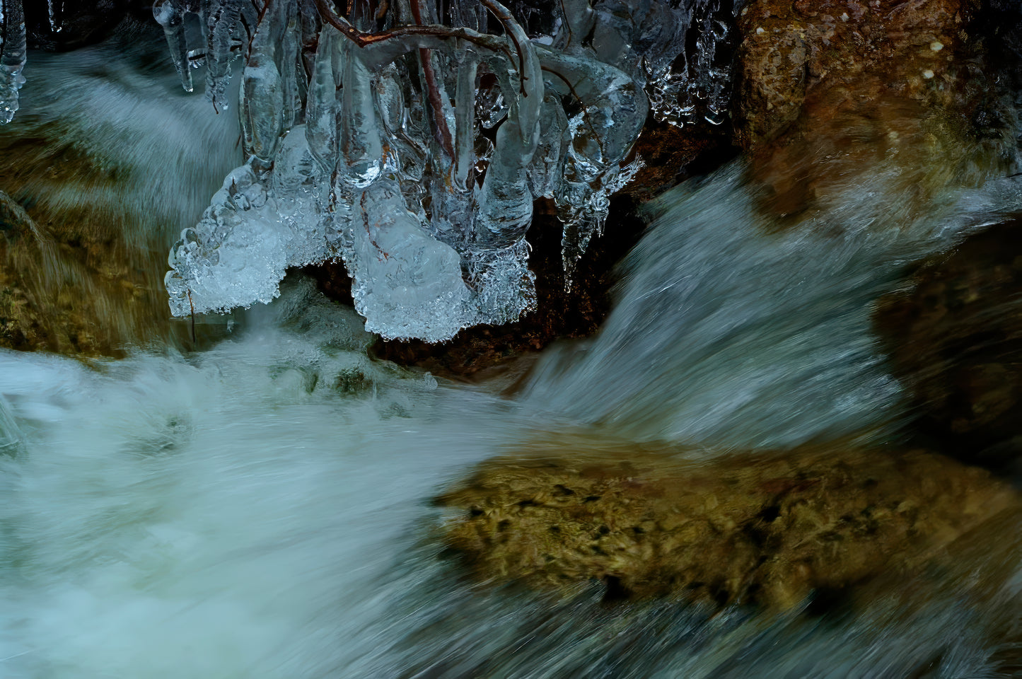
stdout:
<svg viewBox="0 0 1022 679">
<path fill-rule="evenodd" d="M 798 215 L 895 170 L 921 208 L 1014 162 L 1015 110 L 976 0 L 757 0 L 739 28 L 736 132 L 764 208 Z"/>
</svg>

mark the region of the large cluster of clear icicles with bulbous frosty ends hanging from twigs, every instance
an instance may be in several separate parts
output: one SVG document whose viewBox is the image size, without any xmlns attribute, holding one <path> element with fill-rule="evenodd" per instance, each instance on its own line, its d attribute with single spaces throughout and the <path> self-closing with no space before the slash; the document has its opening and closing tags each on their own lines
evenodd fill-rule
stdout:
<svg viewBox="0 0 1022 679">
<path fill-rule="evenodd" d="M 539 196 L 557 206 L 570 280 L 638 169 L 622 163 L 649 111 L 646 79 L 684 52 L 691 8 L 563 0 L 528 33 L 523 5 L 438 4 L 154 3 L 184 88 L 204 59 L 219 109 L 244 53 L 248 162 L 174 245 L 175 315 L 268 302 L 285 268 L 339 256 L 356 308 L 386 337 L 508 322 L 535 307 L 525 232 Z M 203 49 L 188 49 L 188 13 Z"/>
</svg>

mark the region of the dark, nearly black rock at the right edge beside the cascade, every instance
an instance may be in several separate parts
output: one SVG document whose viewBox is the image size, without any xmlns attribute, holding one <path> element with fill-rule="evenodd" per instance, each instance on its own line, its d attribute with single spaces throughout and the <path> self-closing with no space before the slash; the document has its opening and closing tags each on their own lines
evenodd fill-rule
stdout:
<svg viewBox="0 0 1022 679">
<path fill-rule="evenodd" d="M 1022 455 L 1022 222 L 919 265 L 875 323 L 926 445 L 993 466 Z"/>
</svg>

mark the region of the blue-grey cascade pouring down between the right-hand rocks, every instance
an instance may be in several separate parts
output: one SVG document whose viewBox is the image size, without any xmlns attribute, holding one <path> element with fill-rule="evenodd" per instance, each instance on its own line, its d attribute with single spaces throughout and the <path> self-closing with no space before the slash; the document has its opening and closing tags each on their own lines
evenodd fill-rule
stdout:
<svg viewBox="0 0 1022 679">
<path fill-rule="evenodd" d="M 901 395 L 875 301 L 911 262 L 1022 209 L 1016 179 L 945 187 L 925 213 L 892 206 L 890 180 L 850 184 L 789 231 L 756 209 L 739 167 L 676 189 L 626 259 L 600 336 L 550 352 L 530 397 L 630 438 L 736 448 L 882 424 Z"/>
</svg>

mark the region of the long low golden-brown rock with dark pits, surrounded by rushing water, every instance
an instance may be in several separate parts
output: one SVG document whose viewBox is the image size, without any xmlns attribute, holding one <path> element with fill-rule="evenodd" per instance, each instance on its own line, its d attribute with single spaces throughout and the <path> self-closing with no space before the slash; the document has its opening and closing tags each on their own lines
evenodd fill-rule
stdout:
<svg viewBox="0 0 1022 679">
<path fill-rule="evenodd" d="M 908 569 L 1019 500 L 921 451 L 807 447 L 687 461 L 594 446 L 483 463 L 438 498 L 482 579 L 788 607 Z"/>
</svg>

